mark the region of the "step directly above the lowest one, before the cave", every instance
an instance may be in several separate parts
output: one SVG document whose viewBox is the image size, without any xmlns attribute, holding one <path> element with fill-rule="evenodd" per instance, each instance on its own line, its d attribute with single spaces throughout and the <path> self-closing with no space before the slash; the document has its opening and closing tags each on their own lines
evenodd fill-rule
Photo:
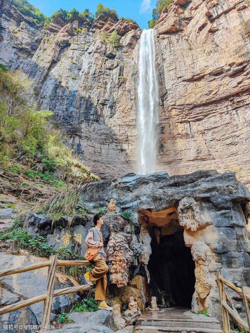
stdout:
<svg viewBox="0 0 250 333">
<path fill-rule="evenodd" d="M 179 318 L 138 318 L 138 326 L 181 327 L 220 330 L 220 323 L 215 318 L 179 319 Z"/>
</svg>

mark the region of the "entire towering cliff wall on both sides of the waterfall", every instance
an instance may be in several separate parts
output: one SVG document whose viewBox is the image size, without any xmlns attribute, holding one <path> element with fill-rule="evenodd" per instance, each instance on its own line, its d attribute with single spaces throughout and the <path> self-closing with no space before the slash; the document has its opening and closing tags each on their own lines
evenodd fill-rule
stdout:
<svg viewBox="0 0 250 333">
<path fill-rule="evenodd" d="M 233 171 L 247 184 L 248 11 L 247 0 L 175 0 L 162 11 L 158 170 Z M 34 80 L 37 107 L 54 112 L 68 145 L 101 177 L 134 171 L 138 25 L 101 14 L 77 34 L 78 20 L 42 29 L 4 0 L 0 12 L 0 62 Z M 105 40 L 115 30 L 119 47 Z"/>
</svg>

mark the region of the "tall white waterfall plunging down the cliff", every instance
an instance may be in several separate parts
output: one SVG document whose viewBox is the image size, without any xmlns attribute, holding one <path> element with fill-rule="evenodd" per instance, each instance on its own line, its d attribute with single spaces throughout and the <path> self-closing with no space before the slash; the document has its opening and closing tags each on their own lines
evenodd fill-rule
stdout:
<svg viewBox="0 0 250 333">
<path fill-rule="evenodd" d="M 147 174 L 155 172 L 159 122 L 153 29 L 141 33 L 138 70 L 138 174 Z"/>
</svg>

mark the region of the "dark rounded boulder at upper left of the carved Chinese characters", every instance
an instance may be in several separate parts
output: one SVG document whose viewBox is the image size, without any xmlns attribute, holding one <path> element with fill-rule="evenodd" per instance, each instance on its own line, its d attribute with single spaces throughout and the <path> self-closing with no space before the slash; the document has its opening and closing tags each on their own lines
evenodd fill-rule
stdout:
<svg viewBox="0 0 250 333">
<path fill-rule="evenodd" d="M 24 219 L 23 227 L 30 236 L 35 234 L 46 236 L 51 230 L 51 220 L 42 214 L 29 213 Z"/>
</svg>

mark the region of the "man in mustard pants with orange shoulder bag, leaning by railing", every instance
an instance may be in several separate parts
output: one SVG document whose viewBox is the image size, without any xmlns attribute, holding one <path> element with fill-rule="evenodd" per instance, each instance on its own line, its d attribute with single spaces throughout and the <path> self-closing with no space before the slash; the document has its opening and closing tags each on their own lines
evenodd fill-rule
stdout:
<svg viewBox="0 0 250 333">
<path fill-rule="evenodd" d="M 108 307 L 105 302 L 107 286 L 106 273 L 108 271 L 108 266 L 105 263 L 106 254 L 103 249 L 103 238 L 101 234 L 101 227 L 103 226 L 104 221 L 102 217 L 97 214 L 93 217 L 93 223 L 95 226 L 89 230 L 85 238 L 85 243 L 88 247 L 86 254 L 91 255 L 92 253 L 94 258 L 91 261 L 89 259 L 89 261 L 94 264 L 95 267 L 83 275 L 81 283 L 89 286 L 94 286 L 94 283 L 96 283 L 94 299 L 95 301 L 98 301 L 98 308 L 112 310 L 112 308 Z"/>
</svg>

